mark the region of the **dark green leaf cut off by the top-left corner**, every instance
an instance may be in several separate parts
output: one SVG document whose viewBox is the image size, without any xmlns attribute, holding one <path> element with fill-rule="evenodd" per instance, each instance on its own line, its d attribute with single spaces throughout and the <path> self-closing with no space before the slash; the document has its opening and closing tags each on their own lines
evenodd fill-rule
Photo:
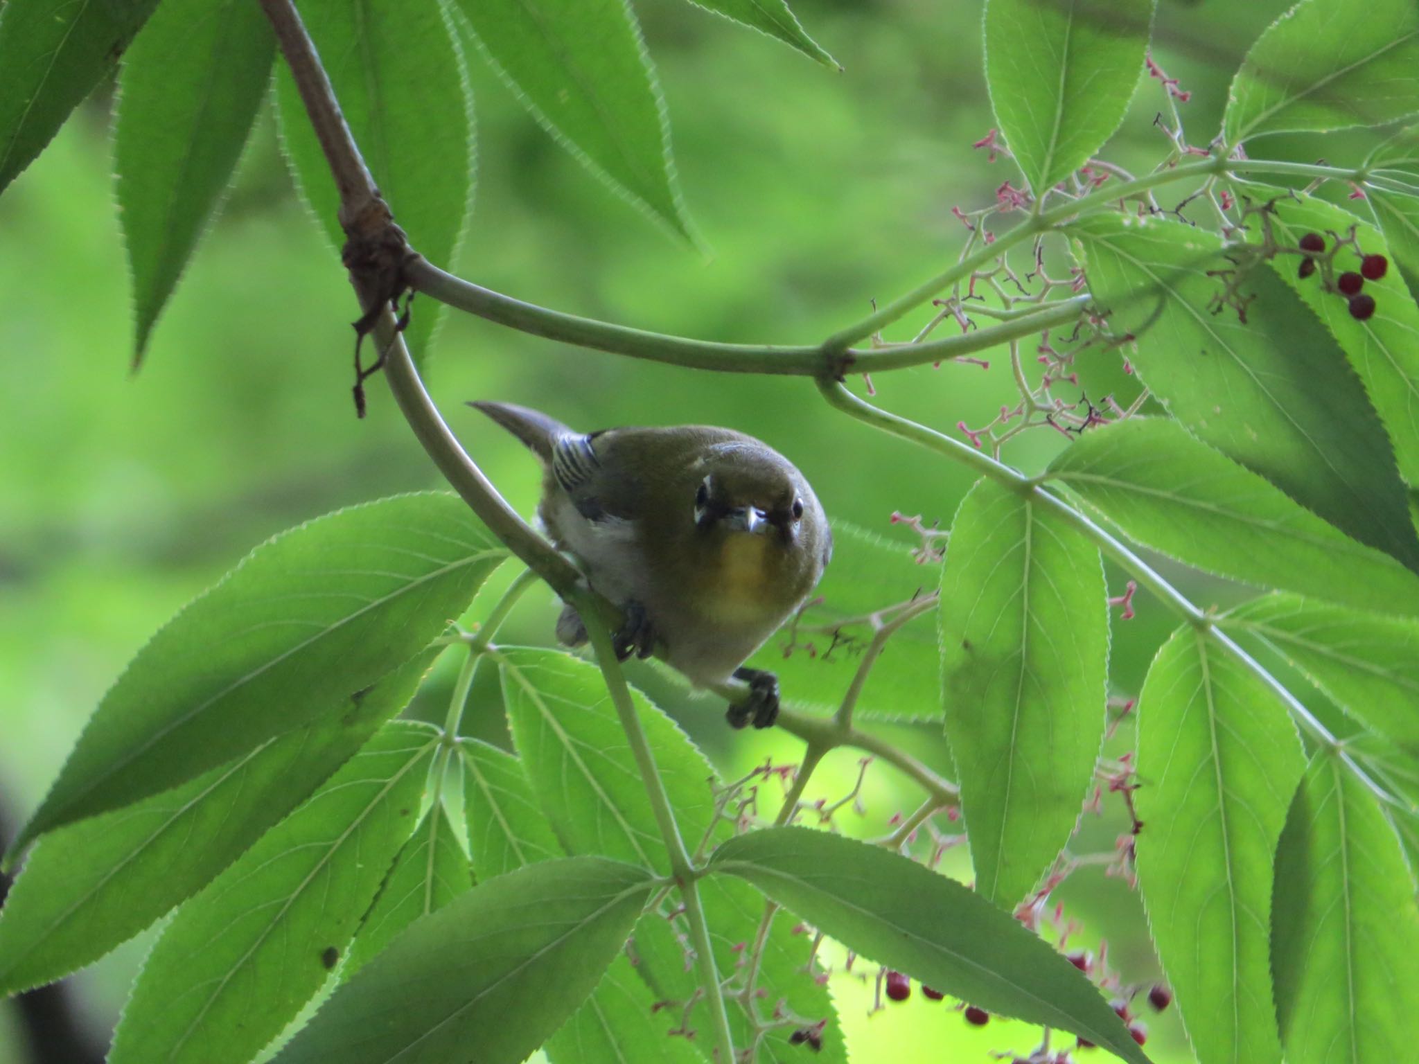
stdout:
<svg viewBox="0 0 1419 1064">
<path fill-rule="evenodd" d="M 7 0 L 0 9 L 0 192 L 118 64 L 158 0 Z"/>
</svg>

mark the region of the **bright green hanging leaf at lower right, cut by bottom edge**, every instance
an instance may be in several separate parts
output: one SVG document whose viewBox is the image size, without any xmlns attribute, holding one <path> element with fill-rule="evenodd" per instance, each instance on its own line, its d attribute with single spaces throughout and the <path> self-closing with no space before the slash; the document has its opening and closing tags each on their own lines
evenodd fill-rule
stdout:
<svg viewBox="0 0 1419 1064">
<path fill-rule="evenodd" d="M 1138 884 L 1200 1064 L 1280 1064 L 1271 855 L 1305 769 L 1254 672 L 1191 627 L 1138 697 Z"/>
</svg>

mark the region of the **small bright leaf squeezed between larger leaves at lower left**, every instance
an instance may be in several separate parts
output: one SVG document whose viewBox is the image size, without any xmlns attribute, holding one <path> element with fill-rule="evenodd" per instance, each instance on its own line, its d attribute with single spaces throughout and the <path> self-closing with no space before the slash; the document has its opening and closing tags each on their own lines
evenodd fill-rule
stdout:
<svg viewBox="0 0 1419 1064">
<path fill-rule="evenodd" d="M 431 807 L 399 851 L 375 905 L 350 943 L 341 979 L 349 979 L 420 916 L 473 890 L 468 858 L 443 806 Z"/>
</svg>

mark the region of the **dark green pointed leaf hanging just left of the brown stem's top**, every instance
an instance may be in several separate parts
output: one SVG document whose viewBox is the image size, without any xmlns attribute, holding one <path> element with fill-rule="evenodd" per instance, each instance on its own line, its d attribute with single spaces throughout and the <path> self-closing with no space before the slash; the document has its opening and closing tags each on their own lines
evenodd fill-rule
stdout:
<svg viewBox="0 0 1419 1064">
<path fill-rule="evenodd" d="M 123 62 L 114 166 L 133 274 L 135 365 L 231 184 L 274 54 L 260 4 L 166 0 Z"/>
</svg>

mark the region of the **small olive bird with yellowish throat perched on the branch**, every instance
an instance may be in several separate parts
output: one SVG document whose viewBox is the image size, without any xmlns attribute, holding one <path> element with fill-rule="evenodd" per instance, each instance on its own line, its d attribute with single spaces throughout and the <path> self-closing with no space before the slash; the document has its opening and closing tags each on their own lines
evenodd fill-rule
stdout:
<svg viewBox="0 0 1419 1064">
<path fill-rule="evenodd" d="M 542 461 L 538 516 L 590 586 L 626 611 L 616 653 L 664 660 L 691 682 L 749 685 L 729 722 L 768 728 L 779 681 L 744 661 L 803 604 L 833 556 L 803 474 L 752 436 L 712 426 L 578 433 L 509 403 L 470 403 Z M 576 610 L 556 624 L 586 640 Z"/>
</svg>

